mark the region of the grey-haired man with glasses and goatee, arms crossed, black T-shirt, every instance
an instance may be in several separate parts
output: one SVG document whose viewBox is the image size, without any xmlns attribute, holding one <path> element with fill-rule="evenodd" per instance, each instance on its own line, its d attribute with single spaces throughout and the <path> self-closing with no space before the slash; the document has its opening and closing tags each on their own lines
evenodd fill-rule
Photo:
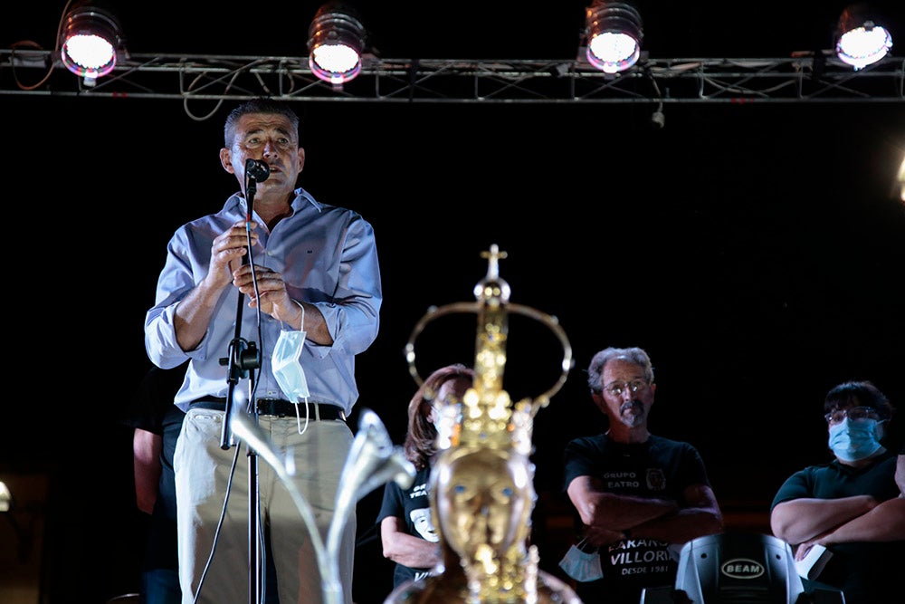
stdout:
<svg viewBox="0 0 905 604">
<path fill-rule="evenodd" d="M 721 532 L 722 513 L 695 447 L 648 431 L 657 387 L 644 350 L 597 352 L 587 383 L 609 429 L 566 446 L 564 486 L 585 546 L 561 566 L 585 604 L 638 604 L 644 588 L 672 587 L 681 545 Z M 576 571 L 594 550 L 599 567 Z"/>
</svg>

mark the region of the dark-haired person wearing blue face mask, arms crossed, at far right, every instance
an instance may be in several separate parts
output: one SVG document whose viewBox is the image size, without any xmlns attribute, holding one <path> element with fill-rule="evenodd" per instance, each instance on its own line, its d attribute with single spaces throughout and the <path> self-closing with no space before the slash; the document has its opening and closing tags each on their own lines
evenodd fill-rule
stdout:
<svg viewBox="0 0 905 604">
<path fill-rule="evenodd" d="M 828 561 L 805 591 L 842 590 L 846 604 L 890 601 L 905 570 L 905 495 L 897 454 L 884 437 L 895 409 L 869 381 L 845 382 L 824 400 L 834 461 L 791 475 L 770 507 L 773 533 L 802 561 L 814 546 Z M 885 446 L 884 446 L 885 445 Z"/>
</svg>

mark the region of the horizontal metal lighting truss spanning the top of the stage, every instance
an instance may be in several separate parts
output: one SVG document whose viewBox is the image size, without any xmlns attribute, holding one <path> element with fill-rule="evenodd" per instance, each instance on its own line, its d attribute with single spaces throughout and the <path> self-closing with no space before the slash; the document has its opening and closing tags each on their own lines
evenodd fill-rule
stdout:
<svg viewBox="0 0 905 604">
<path fill-rule="evenodd" d="M 579 53 L 580 56 L 580 53 Z M 365 55 L 340 89 L 316 77 L 307 57 L 132 54 L 94 86 L 50 51 L 0 50 L 0 94 L 244 101 L 419 103 L 818 103 L 905 101 L 905 58 L 859 71 L 830 53 L 790 58 L 648 59 L 607 74 L 574 60 L 407 60 Z M 58 72 L 58 73 L 57 73 Z"/>
</svg>

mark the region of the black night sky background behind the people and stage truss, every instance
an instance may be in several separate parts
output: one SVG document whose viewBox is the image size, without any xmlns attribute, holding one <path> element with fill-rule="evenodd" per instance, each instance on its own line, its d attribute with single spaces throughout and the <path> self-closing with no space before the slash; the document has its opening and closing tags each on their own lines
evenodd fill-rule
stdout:
<svg viewBox="0 0 905 604">
<path fill-rule="evenodd" d="M 52 48 L 64 4 L 19 7 L 0 24 L 0 44 Z M 239 14 L 210 2 L 120 4 L 132 52 L 276 56 L 306 52 L 319 5 Z M 589 3 L 486 4 L 368 3 L 363 16 L 386 57 L 575 56 Z M 765 5 L 669 4 L 644 16 L 652 57 L 829 48 L 844 5 L 785 3 L 795 6 L 776 18 Z M 893 16 L 902 23 L 900 6 Z M 729 26 L 708 34 L 718 17 Z M 72 601 L 132 589 L 141 519 L 130 431 L 118 418 L 149 368 L 142 326 L 167 240 L 237 189 L 217 156 L 234 104 L 0 99 L 11 235 L 0 470 L 51 477 L 45 580 L 71 586 Z M 545 513 L 567 509 L 562 448 L 604 428 L 584 371 L 596 350 L 648 350 L 652 431 L 699 448 L 727 512 L 766 517 L 787 475 L 829 459 L 822 404 L 835 384 L 871 379 L 905 407 L 905 206 L 894 191 L 902 102 L 673 103 L 663 129 L 643 103 L 296 110 L 307 151 L 300 186 L 376 229 L 385 300 L 380 335 L 357 359 L 357 409 L 375 410 L 395 443 L 415 388 L 403 355 L 414 325 L 432 305 L 473 302 L 491 244 L 508 254 L 500 275 L 511 302 L 556 316 L 567 332 L 575 369 L 534 427 L 536 541 L 548 570 L 565 552 L 544 539 Z M 472 363 L 475 328 L 472 315 L 430 323 L 416 346 L 422 375 Z M 508 351 L 513 399 L 556 381 L 562 350 L 542 326 L 510 317 Z M 379 493 L 362 500 L 359 530 L 378 504 Z M 386 571 L 375 584 L 389 580 L 387 568 L 379 549 L 357 559 L 360 573 Z"/>
</svg>

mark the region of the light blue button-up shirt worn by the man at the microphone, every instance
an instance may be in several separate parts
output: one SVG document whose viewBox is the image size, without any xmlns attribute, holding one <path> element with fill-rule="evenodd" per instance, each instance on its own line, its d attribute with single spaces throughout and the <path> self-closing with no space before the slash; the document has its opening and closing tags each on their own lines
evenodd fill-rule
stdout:
<svg viewBox="0 0 905 604">
<path fill-rule="evenodd" d="M 272 232 L 252 213 L 259 224 L 252 262 L 282 273 L 291 298 L 315 304 L 324 315 L 333 344 L 306 340 L 301 356 L 309 400 L 337 405 L 348 416 L 358 398 L 355 357 L 376 339 L 383 301 L 374 230 L 357 212 L 320 204 L 302 188 L 295 193 L 291 216 L 281 219 Z M 180 226 L 167 244 L 156 302 L 145 317 L 145 349 L 162 369 L 190 360 L 174 401 L 184 411 L 196 398 L 226 397 L 229 363 L 221 360 L 228 357 L 236 335 L 239 291 L 233 286 L 224 289 L 195 350 L 182 350 L 176 342 L 176 305 L 204 279 L 214 238 L 245 216 L 245 200 L 236 193 L 218 213 Z M 271 372 L 271 355 L 281 329 L 291 327 L 249 308 L 247 302 L 243 296 L 241 338 L 262 351 L 261 369 L 254 373 L 255 398 L 285 398 Z M 248 379 L 236 386 L 246 399 L 251 394 L 248 386 Z"/>
</svg>

